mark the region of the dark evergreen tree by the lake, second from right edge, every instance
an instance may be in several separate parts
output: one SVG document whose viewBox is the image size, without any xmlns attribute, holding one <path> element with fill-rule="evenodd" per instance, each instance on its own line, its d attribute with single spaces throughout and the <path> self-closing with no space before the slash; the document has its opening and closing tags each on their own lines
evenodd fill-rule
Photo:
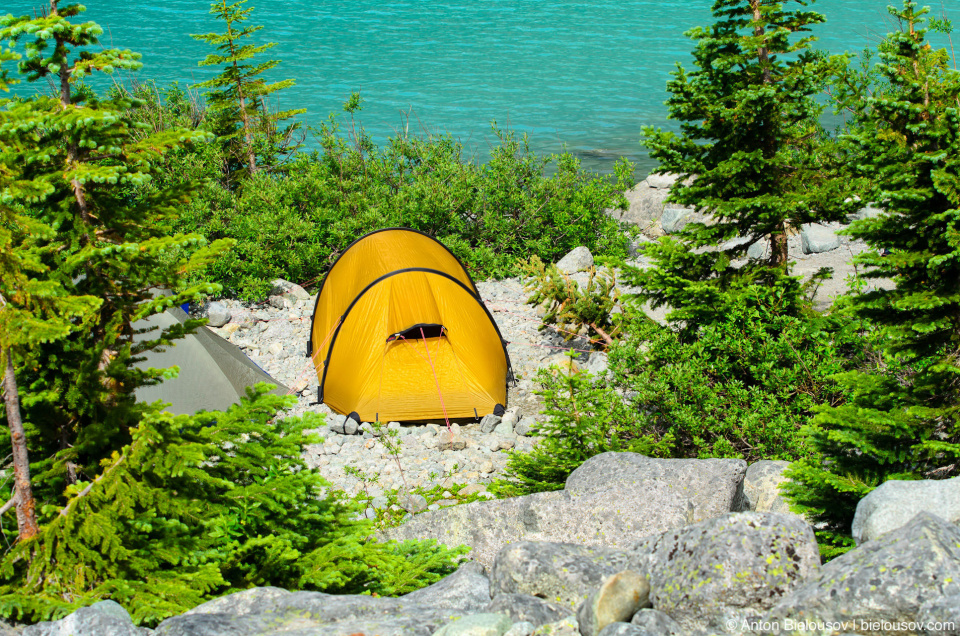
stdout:
<svg viewBox="0 0 960 636">
<path fill-rule="evenodd" d="M 697 69 L 678 65 L 668 84 L 669 115 L 680 134 L 644 130 L 659 169 L 681 177 L 668 200 L 713 218 L 688 225 L 682 241 L 647 248 L 658 267 L 633 272 L 643 296 L 672 306 L 675 320 L 709 320 L 734 280 L 763 284 L 787 273 L 790 228 L 841 214 L 840 183 L 824 170 L 818 149 L 816 95 L 825 62 L 804 35 L 824 18 L 802 9 L 808 4 L 716 0 L 716 22 L 687 33 L 697 43 Z M 768 263 L 731 266 L 764 241 Z M 705 246 L 722 247 L 691 250 Z"/>
</svg>

